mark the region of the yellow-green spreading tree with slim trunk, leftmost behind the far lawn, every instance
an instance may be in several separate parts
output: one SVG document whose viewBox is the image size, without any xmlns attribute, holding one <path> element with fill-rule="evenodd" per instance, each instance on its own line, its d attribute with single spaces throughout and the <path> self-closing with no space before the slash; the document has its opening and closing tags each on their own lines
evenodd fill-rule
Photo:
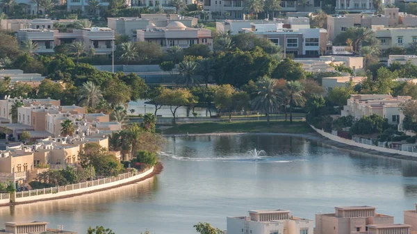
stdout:
<svg viewBox="0 0 417 234">
<path fill-rule="evenodd" d="M 193 105 L 195 101 L 195 97 L 191 94 L 190 90 L 188 89 L 163 89 L 159 98 L 161 100 L 161 104 L 164 106 L 170 106 L 170 110 L 172 113 L 172 123 L 177 123 L 177 110 L 181 106 L 190 106 Z"/>
</svg>

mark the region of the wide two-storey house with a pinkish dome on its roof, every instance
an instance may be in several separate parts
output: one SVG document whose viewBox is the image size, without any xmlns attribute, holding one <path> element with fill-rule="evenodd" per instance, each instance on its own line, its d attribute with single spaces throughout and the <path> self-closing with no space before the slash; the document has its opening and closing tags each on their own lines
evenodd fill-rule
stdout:
<svg viewBox="0 0 417 234">
<path fill-rule="evenodd" d="M 171 22 L 166 27 L 147 26 L 136 31 L 137 40 L 160 44 L 163 49 L 173 46 L 188 48 L 193 44 L 206 44 L 213 49 L 211 30 L 205 28 L 188 28 L 181 22 Z"/>
</svg>

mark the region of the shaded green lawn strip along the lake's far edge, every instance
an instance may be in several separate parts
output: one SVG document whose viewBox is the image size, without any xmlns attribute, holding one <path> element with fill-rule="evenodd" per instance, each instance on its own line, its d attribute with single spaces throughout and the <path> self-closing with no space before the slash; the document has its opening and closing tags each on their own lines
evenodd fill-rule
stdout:
<svg viewBox="0 0 417 234">
<path fill-rule="evenodd" d="M 186 133 L 311 133 L 306 122 L 294 121 L 234 121 L 234 122 L 206 122 L 193 124 L 177 124 L 172 128 L 165 129 L 163 134 L 186 134 Z"/>
</svg>

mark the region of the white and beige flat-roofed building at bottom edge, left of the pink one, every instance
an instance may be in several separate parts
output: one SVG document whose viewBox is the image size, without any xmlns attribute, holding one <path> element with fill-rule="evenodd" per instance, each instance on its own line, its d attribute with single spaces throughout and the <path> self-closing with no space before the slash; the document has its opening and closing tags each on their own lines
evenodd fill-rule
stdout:
<svg viewBox="0 0 417 234">
<path fill-rule="evenodd" d="M 249 216 L 227 217 L 227 234 L 313 234 L 314 222 L 290 210 L 250 210 Z"/>
</svg>

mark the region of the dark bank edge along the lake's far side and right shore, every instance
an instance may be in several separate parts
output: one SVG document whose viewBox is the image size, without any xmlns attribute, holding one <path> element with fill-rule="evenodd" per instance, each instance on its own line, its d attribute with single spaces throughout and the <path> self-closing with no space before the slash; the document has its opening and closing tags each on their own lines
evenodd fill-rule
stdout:
<svg viewBox="0 0 417 234">
<path fill-rule="evenodd" d="M 363 149 L 361 147 L 354 147 L 348 144 L 343 144 L 339 142 L 335 142 L 333 140 L 329 140 L 322 135 L 313 132 L 313 133 L 193 133 L 193 134 L 164 134 L 164 137 L 186 137 L 186 136 L 205 136 L 205 135 L 286 135 L 291 137 L 302 137 L 309 140 L 316 140 L 318 144 L 322 144 L 325 147 L 339 149 L 342 151 L 347 151 L 350 153 L 361 153 L 366 154 L 368 156 L 379 156 L 379 157 L 387 157 L 387 158 L 395 158 L 400 160 L 410 160 L 410 161 L 417 161 L 417 158 L 411 156 L 402 156 L 396 153 L 386 153 L 381 151 L 375 151 L 373 149 Z"/>
</svg>

